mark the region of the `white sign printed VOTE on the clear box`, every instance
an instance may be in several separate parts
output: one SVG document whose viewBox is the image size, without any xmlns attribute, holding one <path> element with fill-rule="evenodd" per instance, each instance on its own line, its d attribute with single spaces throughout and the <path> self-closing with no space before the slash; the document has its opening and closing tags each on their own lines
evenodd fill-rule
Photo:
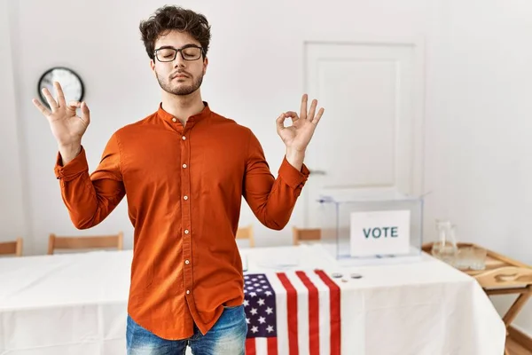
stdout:
<svg viewBox="0 0 532 355">
<path fill-rule="evenodd" d="M 351 256 L 408 254 L 410 210 L 351 213 Z"/>
</svg>

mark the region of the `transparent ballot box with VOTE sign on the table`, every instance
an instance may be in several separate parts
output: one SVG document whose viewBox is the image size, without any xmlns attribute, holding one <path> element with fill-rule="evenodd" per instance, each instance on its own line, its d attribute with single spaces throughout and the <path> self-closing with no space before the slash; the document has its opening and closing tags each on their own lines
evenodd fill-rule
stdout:
<svg viewBox="0 0 532 355">
<path fill-rule="evenodd" d="M 338 260 L 387 263 L 421 256 L 423 198 L 386 192 L 321 195 L 325 248 Z"/>
</svg>

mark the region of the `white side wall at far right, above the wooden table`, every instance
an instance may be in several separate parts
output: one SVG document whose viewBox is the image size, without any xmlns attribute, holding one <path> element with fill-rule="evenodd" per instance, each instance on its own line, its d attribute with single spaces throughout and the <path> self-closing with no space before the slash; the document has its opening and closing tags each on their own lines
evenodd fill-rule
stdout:
<svg viewBox="0 0 532 355">
<path fill-rule="evenodd" d="M 458 237 L 532 264 L 532 3 L 452 0 L 445 136 Z M 496 296 L 505 312 L 515 297 Z M 532 334 L 532 303 L 515 322 Z"/>
</svg>

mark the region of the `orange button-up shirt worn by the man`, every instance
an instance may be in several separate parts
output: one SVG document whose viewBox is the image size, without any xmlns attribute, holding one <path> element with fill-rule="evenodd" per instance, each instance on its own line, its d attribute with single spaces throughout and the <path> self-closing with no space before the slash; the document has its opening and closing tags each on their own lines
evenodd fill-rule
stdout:
<svg viewBox="0 0 532 355">
<path fill-rule="evenodd" d="M 98 225 L 126 196 L 135 227 L 129 316 L 165 339 L 206 334 L 223 305 L 243 303 L 235 234 L 242 196 L 272 229 L 290 219 L 309 170 L 270 173 L 251 130 L 207 105 L 185 126 L 162 107 L 117 130 L 97 170 L 85 152 L 55 167 L 77 228 Z"/>
</svg>

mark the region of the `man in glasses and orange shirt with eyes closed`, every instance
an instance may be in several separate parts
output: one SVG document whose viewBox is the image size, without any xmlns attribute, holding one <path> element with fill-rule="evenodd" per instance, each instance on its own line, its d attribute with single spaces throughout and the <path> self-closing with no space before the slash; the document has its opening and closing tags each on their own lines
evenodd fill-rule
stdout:
<svg viewBox="0 0 532 355">
<path fill-rule="evenodd" d="M 278 178 L 251 130 L 211 111 L 201 99 L 210 26 L 175 6 L 141 22 L 153 74 L 162 89 L 154 114 L 116 131 L 101 162 L 88 172 L 82 135 L 85 102 L 66 105 L 43 90 L 51 110 L 34 99 L 59 144 L 55 167 L 77 228 L 98 225 L 127 196 L 135 227 L 128 303 L 127 348 L 134 354 L 244 354 L 246 314 L 235 233 L 241 196 L 272 229 L 288 223 L 309 170 L 305 149 L 324 110 L 277 119 L 286 145 Z M 81 109 L 81 115 L 76 115 Z M 293 121 L 285 127 L 286 118 Z"/>
</svg>

